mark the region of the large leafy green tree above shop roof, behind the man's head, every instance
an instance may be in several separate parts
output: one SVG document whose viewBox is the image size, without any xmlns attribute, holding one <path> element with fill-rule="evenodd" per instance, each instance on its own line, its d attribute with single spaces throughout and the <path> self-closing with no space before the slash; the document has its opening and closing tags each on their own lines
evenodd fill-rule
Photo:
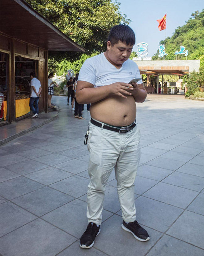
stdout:
<svg viewBox="0 0 204 256">
<path fill-rule="evenodd" d="M 119 11 L 120 3 L 112 0 L 26 0 L 26 2 L 74 42 L 83 46 L 87 54 L 104 51 L 109 30 L 116 24 L 129 24 L 131 21 Z M 76 55 L 72 53 L 74 58 Z"/>
</svg>

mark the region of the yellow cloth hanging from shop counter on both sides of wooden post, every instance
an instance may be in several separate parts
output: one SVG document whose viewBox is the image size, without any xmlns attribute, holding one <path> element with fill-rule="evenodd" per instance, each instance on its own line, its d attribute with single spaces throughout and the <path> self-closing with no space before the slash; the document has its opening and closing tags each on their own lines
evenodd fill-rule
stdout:
<svg viewBox="0 0 204 256">
<path fill-rule="evenodd" d="M 16 118 L 21 117 L 30 112 L 29 101 L 30 101 L 30 98 L 15 100 L 15 117 Z M 7 101 L 4 101 L 3 102 L 3 118 L 5 121 L 6 121 L 6 116 L 7 116 Z"/>
</svg>

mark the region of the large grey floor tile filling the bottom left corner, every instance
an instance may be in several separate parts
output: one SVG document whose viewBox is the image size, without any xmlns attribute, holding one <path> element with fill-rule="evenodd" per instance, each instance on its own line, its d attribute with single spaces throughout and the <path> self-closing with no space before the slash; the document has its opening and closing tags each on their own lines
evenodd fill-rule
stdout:
<svg viewBox="0 0 204 256">
<path fill-rule="evenodd" d="M 3 236 L 1 254 L 54 256 L 74 241 L 76 241 L 75 237 L 42 219 L 36 219 Z"/>
</svg>

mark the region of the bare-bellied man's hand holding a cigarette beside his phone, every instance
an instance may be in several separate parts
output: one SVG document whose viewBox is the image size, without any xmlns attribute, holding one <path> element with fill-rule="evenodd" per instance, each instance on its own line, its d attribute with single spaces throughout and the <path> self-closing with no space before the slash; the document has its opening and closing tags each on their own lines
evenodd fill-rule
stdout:
<svg viewBox="0 0 204 256">
<path fill-rule="evenodd" d="M 117 82 L 117 83 L 110 84 L 108 86 L 110 87 L 110 93 L 112 95 L 117 95 L 124 99 L 127 99 L 126 96 L 132 95 L 130 92 L 126 91 L 126 90 L 133 90 L 133 88 L 127 88 L 131 86 L 130 84 Z"/>
</svg>

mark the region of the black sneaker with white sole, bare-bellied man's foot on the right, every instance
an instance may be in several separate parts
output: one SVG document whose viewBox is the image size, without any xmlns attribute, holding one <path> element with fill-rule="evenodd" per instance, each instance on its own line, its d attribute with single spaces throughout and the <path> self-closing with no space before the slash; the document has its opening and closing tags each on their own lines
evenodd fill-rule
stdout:
<svg viewBox="0 0 204 256">
<path fill-rule="evenodd" d="M 145 242 L 150 239 L 147 231 L 143 227 L 141 227 L 137 221 L 129 222 L 127 224 L 123 220 L 122 229 L 124 229 L 127 232 L 132 233 L 133 236 L 139 241 Z"/>
</svg>

